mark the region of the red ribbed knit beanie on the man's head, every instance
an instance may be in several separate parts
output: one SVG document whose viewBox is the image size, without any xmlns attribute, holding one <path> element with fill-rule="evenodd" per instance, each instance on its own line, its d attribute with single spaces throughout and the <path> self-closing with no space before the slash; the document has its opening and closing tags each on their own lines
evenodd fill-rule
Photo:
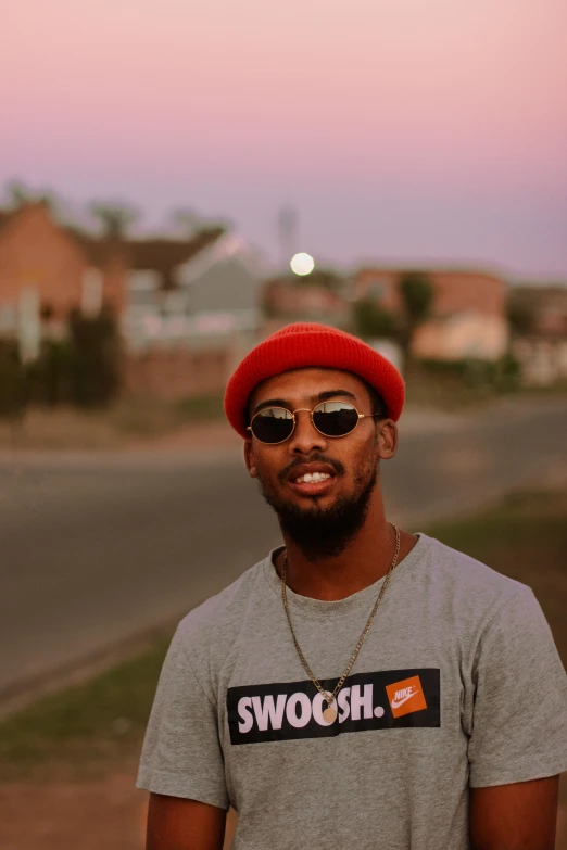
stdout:
<svg viewBox="0 0 567 850">
<path fill-rule="evenodd" d="M 275 375 L 322 366 L 353 372 L 382 396 L 390 419 L 398 421 L 404 406 L 402 376 L 386 357 L 350 333 L 326 325 L 299 322 L 273 333 L 252 348 L 229 379 L 225 393 L 228 421 L 247 439 L 247 405 L 259 383 Z"/>
</svg>

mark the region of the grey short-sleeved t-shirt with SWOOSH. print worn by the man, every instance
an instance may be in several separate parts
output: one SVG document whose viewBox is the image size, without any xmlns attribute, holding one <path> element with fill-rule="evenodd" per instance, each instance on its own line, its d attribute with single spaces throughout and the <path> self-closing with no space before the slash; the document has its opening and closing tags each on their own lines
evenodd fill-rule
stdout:
<svg viewBox="0 0 567 850">
<path fill-rule="evenodd" d="M 567 770 L 567 676 L 529 587 L 420 534 L 329 725 L 273 556 L 181 621 L 138 787 L 231 804 L 236 850 L 465 850 L 469 787 Z M 288 592 L 328 690 L 383 581 L 331 602 Z"/>
</svg>

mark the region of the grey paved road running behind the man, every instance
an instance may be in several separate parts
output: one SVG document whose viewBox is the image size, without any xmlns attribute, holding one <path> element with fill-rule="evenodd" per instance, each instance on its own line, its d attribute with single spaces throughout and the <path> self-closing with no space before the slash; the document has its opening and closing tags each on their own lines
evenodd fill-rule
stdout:
<svg viewBox="0 0 567 850">
<path fill-rule="evenodd" d="M 565 466 L 567 402 L 401 432 L 383 487 L 415 531 Z M 181 614 L 278 542 L 232 449 L 0 459 L 0 701 Z"/>
</svg>

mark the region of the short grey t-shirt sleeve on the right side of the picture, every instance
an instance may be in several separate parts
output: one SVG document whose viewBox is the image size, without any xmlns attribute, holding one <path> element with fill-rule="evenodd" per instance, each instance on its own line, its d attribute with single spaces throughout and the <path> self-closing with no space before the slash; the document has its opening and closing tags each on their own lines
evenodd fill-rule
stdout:
<svg viewBox="0 0 567 850">
<path fill-rule="evenodd" d="M 470 787 L 567 770 L 567 675 L 529 587 L 517 591 L 486 630 L 472 678 Z"/>
</svg>

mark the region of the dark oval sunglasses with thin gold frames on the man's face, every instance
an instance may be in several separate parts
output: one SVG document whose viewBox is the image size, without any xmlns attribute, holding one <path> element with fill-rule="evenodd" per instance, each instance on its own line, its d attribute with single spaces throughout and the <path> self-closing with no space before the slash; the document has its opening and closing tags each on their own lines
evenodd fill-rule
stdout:
<svg viewBox="0 0 567 850">
<path fill-rule="evenodd" d="M 295 414 L 306 410 L 311 416 L 313 427 L 324 436 L 346 436 L 361 419 L 381 416 L 381 414 L 360 414 L 348 402 L 322 402 L 313 410 L 307 407 L 298 407 L 297 410 L 288 410 L 286 407 L 264 407 L 252 418 L 247 428 L 261 443 L 277 445 L 289 440 L 295 430 Z"/>
</svg>

